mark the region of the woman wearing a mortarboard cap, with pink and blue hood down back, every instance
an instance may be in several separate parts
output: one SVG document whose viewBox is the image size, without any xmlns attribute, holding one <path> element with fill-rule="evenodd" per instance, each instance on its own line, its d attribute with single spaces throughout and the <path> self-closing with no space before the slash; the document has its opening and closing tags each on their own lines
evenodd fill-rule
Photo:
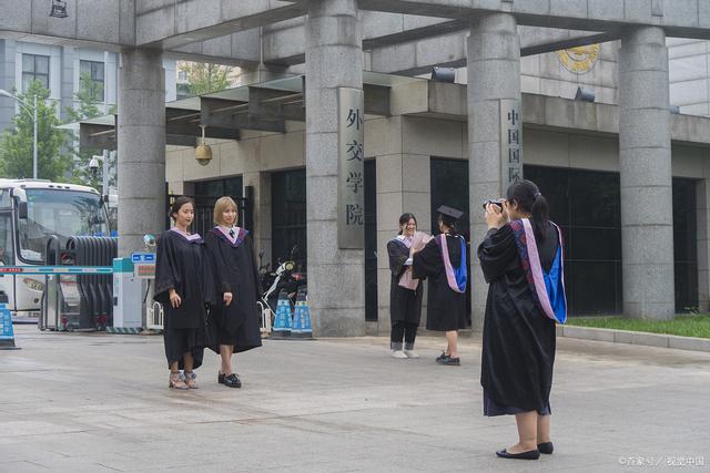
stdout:
<svg viewBox="0 0 710 473">
<path fill-rule="evenodd" d="M 413 277 L 429 280 L 426 329 L 446 332 L 446 350 L 439 364 L 459 366 L 458 330 L 466 328 L 466 241 L 456 234 L 456 220 L 463 212 L 438 208 L 439 230 L 423 250 L 414 254 Z"/>
</svg>

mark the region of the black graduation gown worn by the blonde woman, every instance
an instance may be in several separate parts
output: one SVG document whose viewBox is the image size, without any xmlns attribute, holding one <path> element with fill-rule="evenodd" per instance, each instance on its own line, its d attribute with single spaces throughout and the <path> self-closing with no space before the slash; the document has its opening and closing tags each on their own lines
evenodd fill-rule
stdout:
<svg viewBox="0 0 710 473">
<path fill-rule="evenodd" d="M 220 352 L 220 345 L 234 346 L 234 352 L 262 346 L 260 313 L 256 300 L 261 281 L 254 260 L 251 237 L 241 230 L 232 244 L 219 229 L 205 235 L 216 281 L 215 302 L 210 311 L 207 330 L 210 349 Z M 224 292 L 232 292 L 232 304 L 224 305 Z"/>
</svg>

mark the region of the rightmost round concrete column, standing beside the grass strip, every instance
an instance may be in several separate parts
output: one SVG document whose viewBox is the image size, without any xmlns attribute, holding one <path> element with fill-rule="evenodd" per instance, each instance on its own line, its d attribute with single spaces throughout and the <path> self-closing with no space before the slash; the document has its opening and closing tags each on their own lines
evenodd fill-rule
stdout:
<svg viewBox="0 0 710 473">
<path fill-rule="evenodd" d="M 622 37 L 619 104 L 623 313 L 672 319 L 668 48 L 661 28 L 632 29 Z"/>
</svg>

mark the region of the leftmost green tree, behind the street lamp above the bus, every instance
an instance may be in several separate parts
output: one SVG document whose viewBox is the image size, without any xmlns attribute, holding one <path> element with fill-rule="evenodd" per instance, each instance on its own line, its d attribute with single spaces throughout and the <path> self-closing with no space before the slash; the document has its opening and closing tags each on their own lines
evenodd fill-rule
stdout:
<svg viewBox="0 0 710 473">
<path fill-rule="evenodd" d="M 32 102 L 37 96 L 37 177 L 61 181 L 71 165 L 71 157 L 64 151 L 67 132 L 58 130 L 61 124 L 57 115 L 57 104 L 47 101 L 49 90 L 39 81 L 33 81 L 23 94 L 17 94 L 29 107 L 21 106 L 12 119 L 13 128 L 0 136 L 0 173 L 4 177 L 32 177 Z"/>
</svg>

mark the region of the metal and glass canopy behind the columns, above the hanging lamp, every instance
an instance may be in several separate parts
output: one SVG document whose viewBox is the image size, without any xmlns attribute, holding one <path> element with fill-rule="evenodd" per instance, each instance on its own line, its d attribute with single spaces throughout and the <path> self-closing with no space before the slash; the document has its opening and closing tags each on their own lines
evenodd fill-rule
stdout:
<svg viewBox="0 0 710 473">
<path fill-rule="evenodd" d="M 205 137 L 240 140 L 243 130 L 285 133 L 286 122 L 305 122 L 305 76 L 276 79 L 165 104 L 165 143 L 195 146 L 205 126 Z M 389 116 L 389 91 L 398 84 L 423 79 L 365 71 L 365 113 Z M 105 115 L 64 127 L 80 130 L 82 147 L 115 150 L 118 116 Z"/>
</svg>

